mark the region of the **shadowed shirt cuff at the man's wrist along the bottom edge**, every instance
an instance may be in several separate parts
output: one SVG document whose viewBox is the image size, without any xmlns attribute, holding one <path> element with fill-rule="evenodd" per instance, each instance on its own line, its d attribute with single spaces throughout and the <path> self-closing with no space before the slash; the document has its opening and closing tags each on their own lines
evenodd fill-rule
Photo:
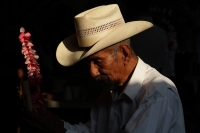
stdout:
<svg viewBox="0 0 200 133">
<path fill-rule="evenodd" d="M 70 124 L 69 122 L 64 122 L 64 128 L 67 129 L 65 133 L 93 133 L 85 124 Z"/>
</svg>

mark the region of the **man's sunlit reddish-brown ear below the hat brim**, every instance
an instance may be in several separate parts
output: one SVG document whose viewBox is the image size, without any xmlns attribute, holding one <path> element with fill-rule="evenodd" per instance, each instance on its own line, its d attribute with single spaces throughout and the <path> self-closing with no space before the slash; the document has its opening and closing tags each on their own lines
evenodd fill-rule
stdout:
<svg viewBox="0 0 200 133">
<path fill-rule="evenodd" d="M 125 62 L 129 62 L 129 60 L 132 56 L 130 46 L 128 46 L 126 44 L 120 45 L 120 52 L 122 54 L 122 60 L 125 61 Z"/>
</svg>

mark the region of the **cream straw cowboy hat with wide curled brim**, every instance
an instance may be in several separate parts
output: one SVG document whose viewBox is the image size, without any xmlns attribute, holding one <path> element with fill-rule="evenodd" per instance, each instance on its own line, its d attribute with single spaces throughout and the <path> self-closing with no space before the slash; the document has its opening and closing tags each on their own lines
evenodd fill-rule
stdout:
<svg viewBox="0 0 200 133">
<path fill-rule="evenodd" d="M 125 23 L 117 4 L 98 6 L 74 17 L 76 34 L 61 41 L 56 58 L 63 66 L 78 61 L 150 27 L 147 21 Z"/>
</svg>

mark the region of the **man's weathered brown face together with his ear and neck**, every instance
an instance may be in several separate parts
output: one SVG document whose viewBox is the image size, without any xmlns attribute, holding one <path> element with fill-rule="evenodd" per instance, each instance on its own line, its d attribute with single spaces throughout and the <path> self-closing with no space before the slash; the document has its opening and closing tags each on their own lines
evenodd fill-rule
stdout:
<svg viewBox="0 0 200 133">
<path fill-rule="evenodd" d="M 133 71 L 137 58 L 134 58 L 135 64 L 130 67 L 132 59 L 130 47 L 121 45 L 117 57 L 112 54 L 112 49 L 104 49 L 91 55 L 87 60 L 91 77 L 103 88 L 116 89 L 126 84 Z"/>
</svg>

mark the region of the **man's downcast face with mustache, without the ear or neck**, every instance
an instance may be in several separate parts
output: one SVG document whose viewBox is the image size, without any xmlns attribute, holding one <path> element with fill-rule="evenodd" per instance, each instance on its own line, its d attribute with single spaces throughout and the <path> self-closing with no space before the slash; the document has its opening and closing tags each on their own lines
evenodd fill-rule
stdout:
<svg viewBox="0 0 200 133">
<path fill-rule="evenodd" d="M 121 83 L 124 65 L 119 52 L 117 54 L 118 60 L 104 49 L 88 57 L 90 75 L 103 88 L 114 89 Z"/>
</svg>

